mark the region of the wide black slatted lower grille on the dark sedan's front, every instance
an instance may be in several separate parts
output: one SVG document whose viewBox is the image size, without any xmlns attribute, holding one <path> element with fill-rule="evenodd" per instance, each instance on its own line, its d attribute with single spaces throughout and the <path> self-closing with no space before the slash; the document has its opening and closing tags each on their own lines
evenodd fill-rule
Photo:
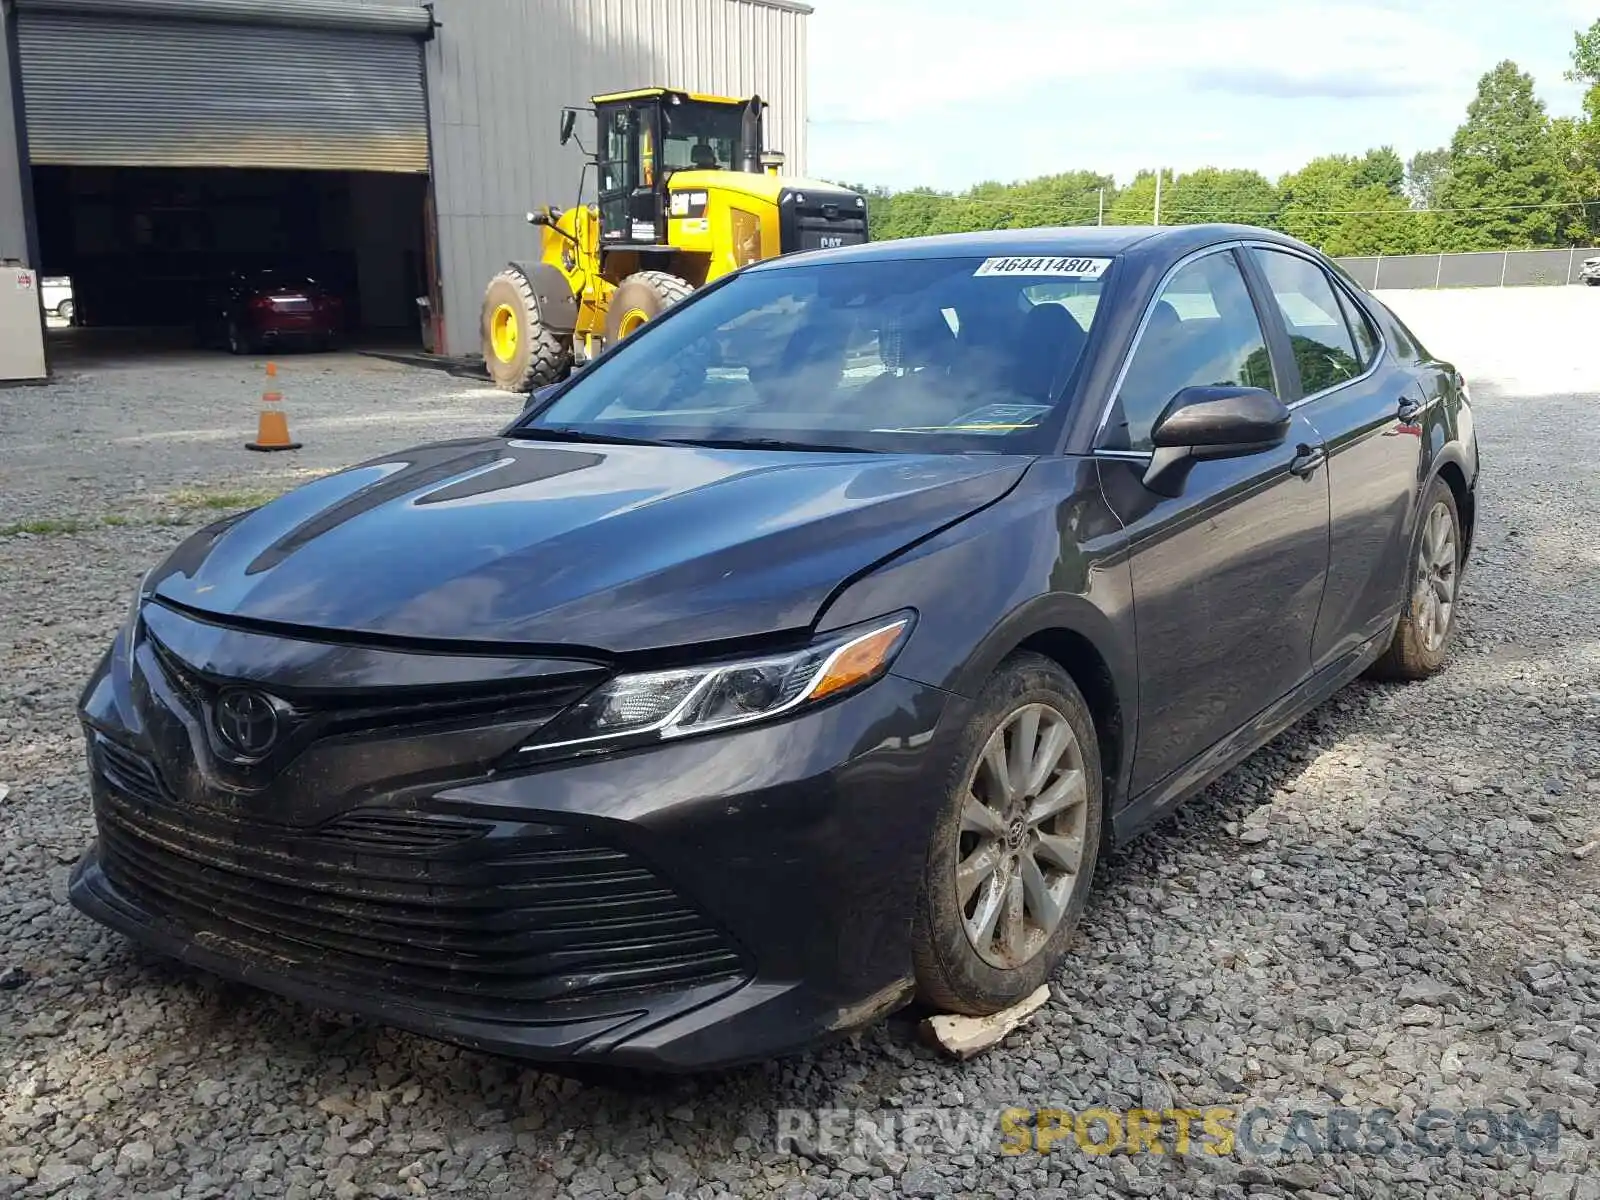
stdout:
<svg viewBox="0 0 1600 1200">
<path fill-rule="evenodd" d="M 488 1019 L 747 974 L 643 862 L 576 827 L 354 811 L 312 830 L 178 810 L 96 736 L 99 859 L 198 944 Z"/>
</svg>

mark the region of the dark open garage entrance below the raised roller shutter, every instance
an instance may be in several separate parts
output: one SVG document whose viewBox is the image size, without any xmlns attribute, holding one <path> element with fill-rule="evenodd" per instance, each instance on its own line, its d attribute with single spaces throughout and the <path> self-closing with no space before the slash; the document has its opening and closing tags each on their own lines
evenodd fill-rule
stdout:
<svg viewBox="0 0 1600 1200">
<path fill-rule="evenodd" d="M 243 349 L 422 342 L 426 176 L 40 165 L 34 194 L 78 344 L 227 349 L 229 322 Z"/>
</svg>

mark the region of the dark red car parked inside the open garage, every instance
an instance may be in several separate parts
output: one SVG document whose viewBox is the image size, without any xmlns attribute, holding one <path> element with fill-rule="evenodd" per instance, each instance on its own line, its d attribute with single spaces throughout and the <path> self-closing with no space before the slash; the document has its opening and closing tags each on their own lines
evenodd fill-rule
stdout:
<svg viewBox="0 0 1600 1200">
<path fill-rule="evenodd" d="M 269 346 L 326 350 L 344 336 L 344 299 L 310 275 L 235 272 L 202 314 L 202 341 L 251 354 Z"/>
</svg>

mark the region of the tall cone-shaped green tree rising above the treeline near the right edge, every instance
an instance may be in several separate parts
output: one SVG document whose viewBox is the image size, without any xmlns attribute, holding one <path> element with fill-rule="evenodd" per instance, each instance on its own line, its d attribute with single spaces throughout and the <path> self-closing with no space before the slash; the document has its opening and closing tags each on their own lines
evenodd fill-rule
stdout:
<svg viewBox="0 0 1600 1200">
<path fill-rule="evenodd" d="M 1467 120 L 1450 142 L 1438 205 L 1450 250 L 1550 246 L 1562 240 L 1557 208 L 1570 202 L 1566 173 L 1533 78 L 1506 61 L 1478 82 Z"/>
</svg>

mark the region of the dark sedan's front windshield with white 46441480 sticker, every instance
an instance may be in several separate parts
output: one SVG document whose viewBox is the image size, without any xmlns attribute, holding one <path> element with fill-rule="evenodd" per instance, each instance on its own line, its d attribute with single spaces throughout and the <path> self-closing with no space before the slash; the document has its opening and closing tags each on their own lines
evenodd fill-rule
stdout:
<svg viewBox="0 0 1600 1200">
<path fill-rule="evenodd" d="M 520 429 L 859 450 L 1032 445 L 1109 259 L 875 259 L 755 270 L 646 325 Z"/>
</svg>

